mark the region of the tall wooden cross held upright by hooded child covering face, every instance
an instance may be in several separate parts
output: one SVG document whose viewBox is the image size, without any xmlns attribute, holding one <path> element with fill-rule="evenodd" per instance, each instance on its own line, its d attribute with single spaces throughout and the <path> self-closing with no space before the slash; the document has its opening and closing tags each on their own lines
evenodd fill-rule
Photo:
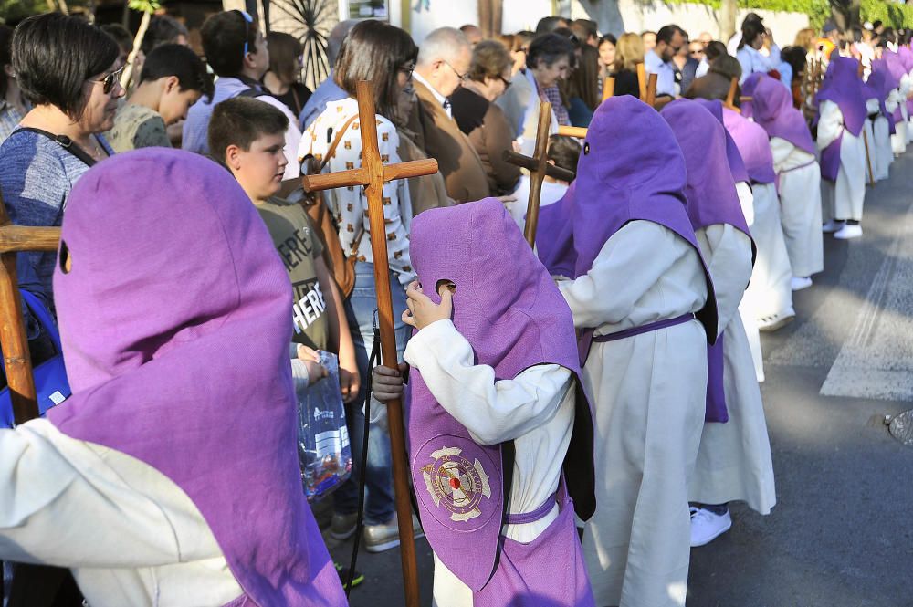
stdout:
<svg viewBox="0 0 913 607">
<path fill-rule="evenodd" d="M 387 261 L 386 225 L 383 221 L 383 184 L 408 177 L 437 173 L 437 161 L 417 160 L 398 164 L 383 164 L 377 149 L 377 126 L 374 112 L 372 83 L 360 80 L 356 85 L 358 121 L 362 132 L 362 166 L 340 173 L 323 173 L 302 177 L 305 192 L 337 187 L 363 186 L 368 198 L 368 222 L 371 225 L 374 284 L 377 289 L 377 312 L 381 330 L 381 361 L 396 366 L 396 336 L 394 309 L 390 296 L 390 267 Z M 371 381 L 371 378 L 368 378 Z M 403 583 L 406 607 L 419 606 L 418 569 L 415 564 L 415 539 L 412 529 L 412 505 L 409 496 L 409 465 L 405 452 L 403 403 L 399 399 L 387 402 L 390 422 L 390 446 L 394 463 L 396 518 L 399 522 L 400 558 L 403 564 Z"/>
</svg>

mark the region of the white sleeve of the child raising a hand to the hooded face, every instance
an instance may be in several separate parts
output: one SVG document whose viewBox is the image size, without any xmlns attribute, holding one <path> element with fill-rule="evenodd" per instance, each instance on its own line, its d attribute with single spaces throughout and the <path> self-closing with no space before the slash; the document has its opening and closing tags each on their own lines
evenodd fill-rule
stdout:
<svg viewBox="0 0 913 607">
<path fill-rule="evenodd" d="M 571 371 L 557 364 L 536 365 L 512 380 L 496 381 L 493 368 L 475 364 L 472 347 L 450 320 L 418 331 L 404 359 L 479 445 L 513 440 L 548 423 L 572 382 Z"/>
</svg>

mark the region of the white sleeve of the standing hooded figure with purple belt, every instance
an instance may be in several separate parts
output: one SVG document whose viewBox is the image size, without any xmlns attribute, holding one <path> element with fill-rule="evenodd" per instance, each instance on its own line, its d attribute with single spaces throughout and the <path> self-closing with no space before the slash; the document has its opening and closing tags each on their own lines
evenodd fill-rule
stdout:
<svg viewBox="0 0 913 607">
<path fill-rule="evenodd" d="M 618 324 L 627 318 L 635 303 L 676 264 L 677 256 L 656 254 L 670 235 L 679 238 L 662 225 L 635 220 L 605 242 L 589 272 L 560 281 L 574 327 Z"/>
</svg>

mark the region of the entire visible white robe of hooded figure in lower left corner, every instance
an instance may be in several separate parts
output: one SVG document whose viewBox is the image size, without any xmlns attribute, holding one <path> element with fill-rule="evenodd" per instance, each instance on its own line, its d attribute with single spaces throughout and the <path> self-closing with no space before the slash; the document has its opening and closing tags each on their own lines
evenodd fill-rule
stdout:
<svg viewBox="0 0 913 607">
<path fill-rule="evenodd" d="M 0 559 L 71 568 L 92 607 L 219 607 L 242 593 L 170 478 L 44 419 L 0 430 Z"/>
</svg>

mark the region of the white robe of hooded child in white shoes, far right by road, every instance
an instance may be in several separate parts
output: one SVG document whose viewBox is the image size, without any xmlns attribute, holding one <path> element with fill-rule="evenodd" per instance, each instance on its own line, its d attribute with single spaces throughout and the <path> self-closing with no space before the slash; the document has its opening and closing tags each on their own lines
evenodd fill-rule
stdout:
<svg viewBox="0 0 913 607">
<path fill-rule="evenodd" d="M 865 131 L 863 131 L 865 132 Z M 838 137 L 840 171 L 835 182 L 821 180 L 822 219 L 862 219 L 866 201 L 866 142 L 862 132 L 855 136 L 844 126 L 844 115 L 834 101 L 822 101 L 818 120 L 818 149 L 824 150 Z"/>
</svg>

